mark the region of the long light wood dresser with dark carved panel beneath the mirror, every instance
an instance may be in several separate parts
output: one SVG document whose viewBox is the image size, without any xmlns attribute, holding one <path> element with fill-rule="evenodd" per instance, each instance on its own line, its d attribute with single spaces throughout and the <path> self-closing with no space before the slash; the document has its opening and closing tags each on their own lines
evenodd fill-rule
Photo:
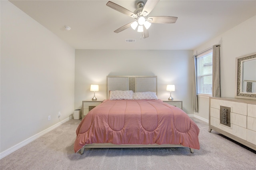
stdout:
<svg viewBox="0 0 256 170">
<path fill-rule="evenodd" d="M 256 150 L 256 100 L 210 97 L 209 107 L 209 132 Z"/>
</svg>

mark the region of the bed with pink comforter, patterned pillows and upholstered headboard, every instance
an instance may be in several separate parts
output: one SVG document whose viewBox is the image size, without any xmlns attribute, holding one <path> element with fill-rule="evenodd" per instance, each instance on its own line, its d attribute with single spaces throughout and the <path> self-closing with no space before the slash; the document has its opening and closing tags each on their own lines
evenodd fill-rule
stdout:
<svg viewBox="0 0 256 170">
<path fill-rule="evenodd" d="M 200 149 L 199 128 L 157 98 L 157 76 L 107 76 L 107 97 L 76 129 L 74 151 L 85 148 Z"/>
</svg>

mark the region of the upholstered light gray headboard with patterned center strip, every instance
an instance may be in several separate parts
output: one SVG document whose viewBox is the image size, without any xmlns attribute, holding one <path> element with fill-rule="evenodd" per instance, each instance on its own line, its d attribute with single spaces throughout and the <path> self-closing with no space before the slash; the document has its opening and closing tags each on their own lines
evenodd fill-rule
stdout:
<svg viewBox="0 0 256 170">
<path fill-rule="evenodd" d="M 157 76 L 107 76 L 107 97 L 111 90 L 153 91 L 157 94 Z"/>
</svg>

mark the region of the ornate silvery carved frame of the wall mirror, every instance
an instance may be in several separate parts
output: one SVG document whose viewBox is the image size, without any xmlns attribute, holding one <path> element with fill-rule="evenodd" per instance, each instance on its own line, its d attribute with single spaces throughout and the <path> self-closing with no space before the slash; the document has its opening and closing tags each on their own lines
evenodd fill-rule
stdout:
<svg viewBox="0 0 256 170">
<path fill-rule="evenodd" d="M 256 100 L 255 93 L 243 93 L 241 90 L 241 86 L 243 83 L 241 80 L 242 77 L 242 61 L 248 59 L 256 59 L 256 53 L 252 53 L 250 55 L 244 55 L 242 57 L 236 57 L 236 98 L 242 99 L 254 99 Z"/>
</svg>

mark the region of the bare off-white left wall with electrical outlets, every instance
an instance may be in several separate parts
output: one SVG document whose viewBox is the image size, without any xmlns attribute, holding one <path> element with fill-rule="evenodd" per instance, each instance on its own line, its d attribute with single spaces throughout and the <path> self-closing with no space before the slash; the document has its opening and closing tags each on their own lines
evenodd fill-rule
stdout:
<svg viewBox="0 0 256 170">
<path fill-rule="evenodd" d="M 75 50 L 9 1 L 0 3 L 3 152 L 73 113 Z"/>
</svg>

